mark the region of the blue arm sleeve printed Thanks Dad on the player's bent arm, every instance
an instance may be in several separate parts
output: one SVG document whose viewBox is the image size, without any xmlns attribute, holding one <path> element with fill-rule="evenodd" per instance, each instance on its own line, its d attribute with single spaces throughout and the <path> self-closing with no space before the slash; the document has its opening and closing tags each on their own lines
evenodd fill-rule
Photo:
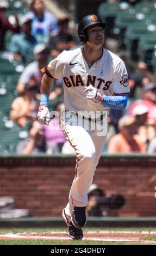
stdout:
<svg viewBox="0 0 156 256">
<path fill-rule="evenodd" d="M 106 96 L 103 95 L 102 105 L 115 109 L 124 109 L 127 106 L 128 95 Z"/>
</svg>

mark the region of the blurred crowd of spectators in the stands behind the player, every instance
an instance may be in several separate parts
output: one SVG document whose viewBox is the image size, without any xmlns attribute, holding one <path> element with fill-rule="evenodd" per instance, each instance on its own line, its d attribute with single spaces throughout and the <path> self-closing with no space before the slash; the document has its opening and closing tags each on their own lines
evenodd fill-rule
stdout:
<svg viewBox="0 0 156 256">
<path fill-rule="evenodd" d="M 14 1 L 15 2 L 15 1 Z M 106 1 L 105 1 L 106 2 Z M 120 1 L 107 1 L 120 2 Z M 136 4 L 140 1 L 124 1 Z M 44 1 L 33 0 L 24 15 L 7 14 L 9 1 L 0 1 L 0 51 L 9 52 L 10 63 L 20 63 L 24 69 L 16 84 L 17 97 L 11 103 L 10 119 L 28 131 L 28 138 L 18 142 L 17 154 L 61 153 L 74 154 L 59 127 L 59 119 L 49 126 L 36 119 L 40 100 L 43 66 L 64 50 L 80 47 L 76 34 L 70 33 L 70 18 L 57 19 L 49 13 Z M 9 45 L 5 37 L 11 31 Z M 108 50 L 111 38 L 105 36 Z M 115 38 L 112 39 L 113 42 Z M 128 106 L 124 111 L 110 109 L 109 132 L 104 153 L 156 153 L 156 84 L 154 72 L 141 60 L 132 62 L 120 46 L 116 53 L 126 63 L 130 83 Z M 11 57 L 10 57 L 11 56 Z M 31 62 L 29 60 L 32 60 Z M 5 96 L 5 95 L 4 95 Z M 0 97 L 4 97 L 0 95 Z M 53 110 L 63 107 L 62 80 L 55 81 L 50 102 Z M 50 109 L 51 111 L 52 109 Z"/>
</svg>

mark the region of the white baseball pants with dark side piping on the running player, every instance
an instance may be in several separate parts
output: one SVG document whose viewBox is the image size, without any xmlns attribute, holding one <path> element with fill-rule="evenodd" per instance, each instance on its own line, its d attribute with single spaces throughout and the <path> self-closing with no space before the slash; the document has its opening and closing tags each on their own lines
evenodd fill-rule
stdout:
<svg viewBox="0 0 156 256">
<path fill-rule="evenodd" d="M 85 127 L 84 127 L 85 123 Z M 92 126 L 102 127 L 92 130 Z M 86 129 L 87 127 L 87 129 Z M 105 139 L 108 131 L 108 111 L 104 111 L 103 120 L 90 121 L 72 115 L 72 123 L 61 117 L 61 129 L 65 137 L 76 151 L 76 176 L 74 177 L 69 202 L 65 212 L 71 217 L 73 206 L 83 207 L 88 204 L 88 190 L 92 184 L 93 175 L 96 170 L 99 158 L 104 148 Z"/>
</svg>

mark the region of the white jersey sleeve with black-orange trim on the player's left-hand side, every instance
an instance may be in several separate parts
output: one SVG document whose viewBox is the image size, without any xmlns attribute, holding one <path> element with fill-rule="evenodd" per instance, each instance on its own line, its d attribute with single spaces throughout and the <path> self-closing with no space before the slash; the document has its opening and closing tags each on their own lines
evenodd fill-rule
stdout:
<svg viewBox="0 0 156 256">
<path fill-rule="evenodd" d="M 64 65 L 65 65 L 65 62 L 64 62 L 65 52 L 66 51 L 61 52 L 57 58 L 53 59 L 47 65 L 48 73 L 55 79 L 59 79 L 63 75 Z"/>
</svg>

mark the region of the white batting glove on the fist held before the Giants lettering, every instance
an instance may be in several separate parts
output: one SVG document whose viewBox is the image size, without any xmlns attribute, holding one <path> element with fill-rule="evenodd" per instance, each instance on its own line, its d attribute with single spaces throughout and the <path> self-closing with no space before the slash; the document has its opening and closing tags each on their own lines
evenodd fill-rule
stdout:
<svg viewBox="0 0 156 256">
<path fill-rule="evenodd" d="M 86 99 L 92 100 L 95 103 L 101 103 L 103 100 L 103 96 L 101 93 L 97 91 L 95 87 L 90 84 L 88 87 L 84 87 L 84 92 L 86 93 Z"/>
</svg>

